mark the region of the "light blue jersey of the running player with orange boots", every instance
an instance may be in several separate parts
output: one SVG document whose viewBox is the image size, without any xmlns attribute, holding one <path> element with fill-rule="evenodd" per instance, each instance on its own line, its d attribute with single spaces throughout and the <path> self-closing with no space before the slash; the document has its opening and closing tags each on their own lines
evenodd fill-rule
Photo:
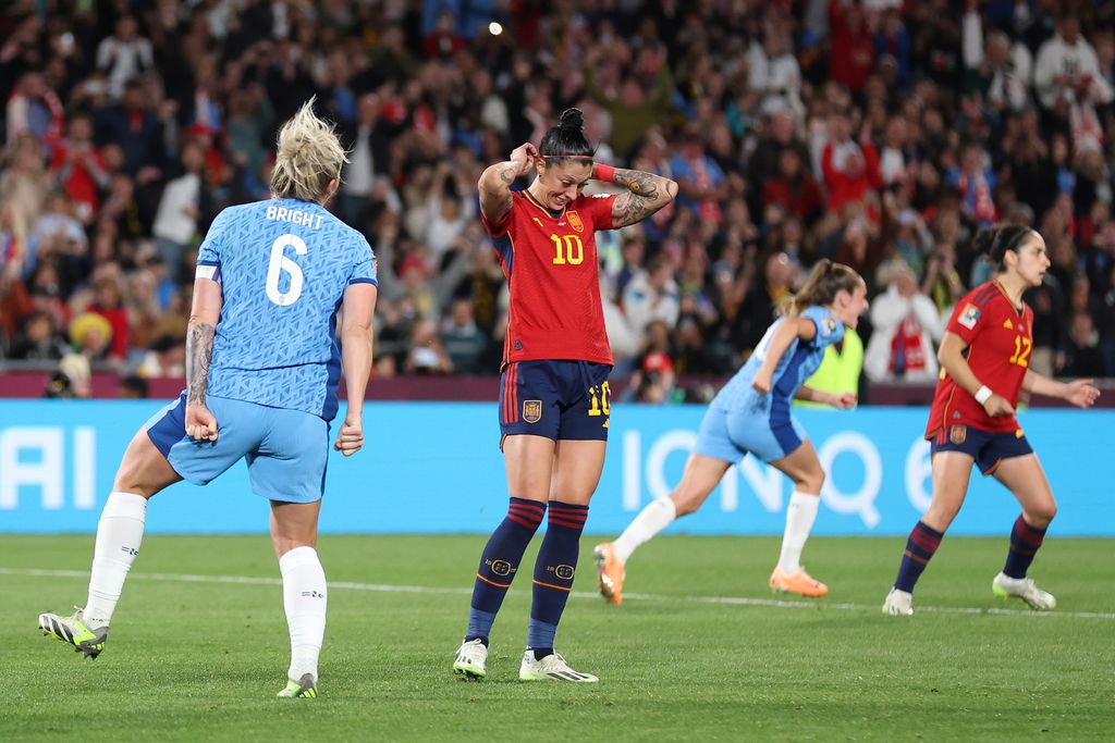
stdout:
<svg viewBox="0 0 1115 743">
<path fill-rule="evenodd" d="M 825 349 L 844 338 L 844 323 L 836 320 L 833 313 L 822 306 L 813 305 L 806 307 L 802 313 L 803 317 L 813 321 L 816 325 L 817 334 L 812 341 L 796 339 L 782 354 L 778 365 L 775 366 L 770 378 L 770 393 L 780 401 L 788 401 L 797 393 L 798 388 L 813 375 L 813 372 L 821 365 L 825 355 Z M 770 346 L 770 339 L 774 338 L 775 329 L 784 322 L 778 317 L 763 340 L 755 348 L 755 352 L 747 362 L 728 380 L 724 389 L 712 400 L 712 407 L 721 410 L 744 410 L 753 408 L 759 394 L 752 388 L 752 380 L 755 372 L 759 370 L 766 351 Z"/>
</svg>

